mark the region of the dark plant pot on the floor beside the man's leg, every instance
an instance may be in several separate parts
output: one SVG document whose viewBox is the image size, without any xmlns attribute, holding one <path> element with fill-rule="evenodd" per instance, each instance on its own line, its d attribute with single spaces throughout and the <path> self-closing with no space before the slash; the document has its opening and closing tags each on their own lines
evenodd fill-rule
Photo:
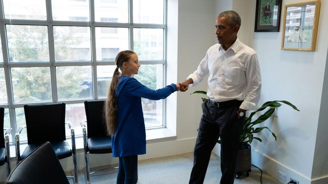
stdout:
<svg viewBox="0 0 328 184">
<path fill-rule="evenodd" d="M 247 144 L 244 149 L 238 150 L 236 173 L 251 171 L 251 145 Z M 241 174 L 238 174 L 241 175 Z"/>
</svg>

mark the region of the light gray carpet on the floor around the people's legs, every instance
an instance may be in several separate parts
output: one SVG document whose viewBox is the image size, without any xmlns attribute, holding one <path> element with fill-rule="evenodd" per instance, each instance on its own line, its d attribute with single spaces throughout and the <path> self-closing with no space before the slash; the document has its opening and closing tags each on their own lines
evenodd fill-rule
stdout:
<svg viewBox="0 0 328 184">
<path fill-rule="evenodd" d="M 141 160 L 138 162 L 138 184 L 183 184 L 188 183 L 190 171 L 193 164 L 193 153 L 168 156 L 162 158 Z M 260 183 L 261 172 L 251 168 L 249 177 L 235 179 L 235 184 Z M 91 169 L 92 171 L 93 169 Z M 117 172 L 105 170 L 97 172 L 90 177 L 92 184 L 116 183 Z M 219 183 L 221 177 L 220 158 L 215 154 L 211 155 L 209 166 L 206 172 L 205 184 Z M 73 183 L 70 179 L 70 183 Z M 85 183 L 82 173 L 79 173 L 79 183 Z M 276 184 L 281 183 L 277 179 L 263 173 L 262 183 Z"/>
</svg>

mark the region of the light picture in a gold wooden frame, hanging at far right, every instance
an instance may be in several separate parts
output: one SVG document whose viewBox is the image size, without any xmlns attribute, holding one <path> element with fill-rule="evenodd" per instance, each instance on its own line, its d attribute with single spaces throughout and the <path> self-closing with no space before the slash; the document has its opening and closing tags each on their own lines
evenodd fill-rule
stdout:
<svg viewBox="0 0 328 184">
<path fill-rule="evenodd" d="M 285 6 L 283 50 L 314 51 L 320 1 Z"/>
</svg>

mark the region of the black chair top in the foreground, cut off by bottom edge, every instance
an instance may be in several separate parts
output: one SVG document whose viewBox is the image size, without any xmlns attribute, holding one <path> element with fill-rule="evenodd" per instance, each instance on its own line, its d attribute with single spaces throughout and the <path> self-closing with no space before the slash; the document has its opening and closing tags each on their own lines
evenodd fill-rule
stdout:
<svg viewBox="0 0 328 184">
<path fill-rule="evenodd" d="M 8 184 L 69 183 L 51 144 L 46 142 L 27 155 L 9 175 Z"/>
</svg>

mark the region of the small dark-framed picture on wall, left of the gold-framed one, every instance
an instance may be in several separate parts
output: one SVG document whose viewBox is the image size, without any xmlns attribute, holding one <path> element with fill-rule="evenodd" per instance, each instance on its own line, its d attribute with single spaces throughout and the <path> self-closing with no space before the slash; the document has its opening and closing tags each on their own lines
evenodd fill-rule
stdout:
<svg viewBox="0 0 328 184">
<path fill-rule="evenodd" d="M 256 0 L 255 32 L 279 32 L 282 0 Z"/>
</svg>

